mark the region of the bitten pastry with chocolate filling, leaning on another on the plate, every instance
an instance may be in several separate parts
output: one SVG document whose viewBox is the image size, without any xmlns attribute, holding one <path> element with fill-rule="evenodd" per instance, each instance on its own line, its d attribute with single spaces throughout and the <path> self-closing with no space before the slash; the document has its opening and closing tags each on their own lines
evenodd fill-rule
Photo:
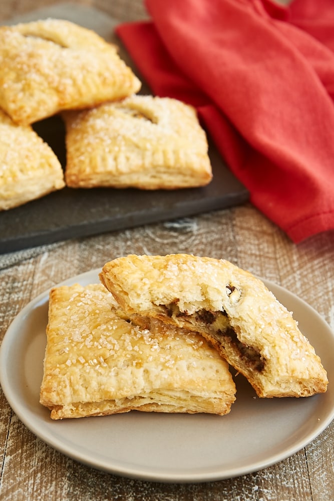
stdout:
<svg viewBox="0 0 334 501">
<path fill-rule="evenodd" d="M 228 261 L 130 255 L 107 263 L 100 279 L 127 314 L 201 333 L 259 397 L 326 391 L 326 372 L 292 314 Z"/>
</svg>

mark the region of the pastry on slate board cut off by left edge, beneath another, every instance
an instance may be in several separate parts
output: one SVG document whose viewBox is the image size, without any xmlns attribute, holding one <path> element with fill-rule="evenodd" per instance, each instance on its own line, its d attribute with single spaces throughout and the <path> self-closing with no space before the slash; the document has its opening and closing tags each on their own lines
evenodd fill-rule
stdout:
<svg viewBox="0 0 334 501">
<path fill-rule="evenodd" d="M 30 125 L 0 110 L 0 210 L 22 205 L 65 186 L 62 166 Z"/>
</svg>

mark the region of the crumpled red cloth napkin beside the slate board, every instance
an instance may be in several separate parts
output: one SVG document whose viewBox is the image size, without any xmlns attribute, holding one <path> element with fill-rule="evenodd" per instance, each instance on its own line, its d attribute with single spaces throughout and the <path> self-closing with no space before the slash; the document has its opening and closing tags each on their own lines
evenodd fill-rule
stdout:
<svg viewBox="0 0 334 501">
<path fill-rule="evenodd" d="M 158 96 L 197 108 L 251 202 L 294 242 L 334 229 L 334 3 L 146 0 L 117 33 Z"/>
</svg>

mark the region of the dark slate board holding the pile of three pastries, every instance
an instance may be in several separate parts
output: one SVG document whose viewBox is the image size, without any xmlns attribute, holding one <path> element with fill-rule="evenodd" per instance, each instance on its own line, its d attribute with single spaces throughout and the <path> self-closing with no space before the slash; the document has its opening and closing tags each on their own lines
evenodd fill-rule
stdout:
<svg viewBox="0 0 334 501">
<path fill-rule="evenodd" d="M 58 9 L 58 11 L 57 11 Z M 69 19 L 87 28 L 95 29 L 112 40 L 115 20 L 105 14 L 78 5 L 60 4 L 57 8 L 30 13 L 30 21 L 46 17 Z M 111 33 L 108 35 L 108 30 Z M 123 52 L 122 52 L 123 50 Z M 121 57 L 132 67 L 128 55 Z M 136 74 L 138 71 L 134 68 Z M 144 85 L 141 93 L 148 93 Z M 35 130 L 66 162 L 64 124 L 60 117 L 51 117 L 34 124 Z M 209 141 L 210 142 L 210 141 Z M 174 191 L 142 191 L 137 189 L 71 189 L 33 200 L 20 207 L 0 212 L 0 254 L 24 248 L 54 243 L 69 238 L 125 229 L 146 223 L 170 220 L 241 204 L 248 199 L 248 191 L 232 175 L 215 146 L 210 143 L 213 181 L 202 188 Z"/>
</svg>

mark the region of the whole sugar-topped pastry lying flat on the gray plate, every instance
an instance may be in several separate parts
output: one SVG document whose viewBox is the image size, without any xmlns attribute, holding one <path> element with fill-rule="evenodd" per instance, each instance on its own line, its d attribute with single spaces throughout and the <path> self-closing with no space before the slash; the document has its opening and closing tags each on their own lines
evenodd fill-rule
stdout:
<svg viewBox="0 0 334 501">
<path fill-rule="evenodd" d="M 227 363 L 193 333 L 117 314 L 101 284 L 54 288 L 40 401 L 52 419 L 130 410 L 227 414 Z"/>
</svg>

